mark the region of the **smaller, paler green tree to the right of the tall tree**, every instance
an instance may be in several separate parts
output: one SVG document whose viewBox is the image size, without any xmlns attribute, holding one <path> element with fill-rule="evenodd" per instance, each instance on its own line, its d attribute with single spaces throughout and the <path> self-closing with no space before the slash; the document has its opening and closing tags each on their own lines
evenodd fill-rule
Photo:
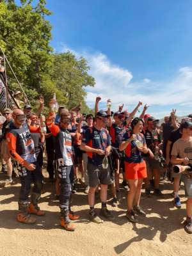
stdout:
<svg viewBox="0 0 192 256">
<path fill-rule="evenodd" d="M 83 57 L 77 60 L 70 51 L 54 54 L 53 57 L 51 78 L 65 97 L 65 104 L 72 108 L 82 102 L 83 108 L 86 108 L 85 88 L 95 84 L 95 79 L 88 74 L 90 67 L 87 61 Z"/>
</svg>

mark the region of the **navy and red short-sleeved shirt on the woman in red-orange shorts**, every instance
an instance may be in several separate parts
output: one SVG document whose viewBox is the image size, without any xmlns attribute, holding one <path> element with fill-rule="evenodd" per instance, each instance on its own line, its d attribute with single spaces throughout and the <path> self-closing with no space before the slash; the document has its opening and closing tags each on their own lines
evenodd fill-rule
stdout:
<svg viewBox="0 0 192 256">
<path fill-rule="evenodd" d="M 124 134 L 123 141 L 127 141 L 131 137 L 130 132 Z M 141 133 L 136 134 L 136 140 L 139 140 L 143 145 L 146 144 L 145 136 Z M 142 152 L 138 150 L 135 140 L 132 140 L 125 148 L 125 162 L 141 163 L 143 162 Z"/>
</svg>

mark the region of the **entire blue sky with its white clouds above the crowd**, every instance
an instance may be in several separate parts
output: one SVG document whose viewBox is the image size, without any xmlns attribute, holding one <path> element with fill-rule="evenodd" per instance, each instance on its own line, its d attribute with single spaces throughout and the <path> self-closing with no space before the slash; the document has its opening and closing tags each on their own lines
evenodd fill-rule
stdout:
<svg viewBox="0 0 192 256">
<path fill-rule="evenodd" d="M 84 56 L 95 77 L 87 103 L 141 100 L 158 117 L 192 112 L 191 0 L 47 0 L 51 45 Z"/>
</svg>

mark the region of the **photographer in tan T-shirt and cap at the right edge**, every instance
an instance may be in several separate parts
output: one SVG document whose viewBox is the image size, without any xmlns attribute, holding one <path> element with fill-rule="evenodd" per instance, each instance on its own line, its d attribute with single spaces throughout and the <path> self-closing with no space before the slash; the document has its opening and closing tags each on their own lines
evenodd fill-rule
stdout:
<svg viewBox="0 0 192 256">
<path fill-rule="evenodd" d="M 173 144 L 172 163 L 173 164 L 192 164 L 192 122 L 186 121 L 180 124 L 181 138 Z M 182 175 L 184 181 L 186 196 L 186 220 L 184 221 L 184 230 L 192 234 L 192 177 Z"/>
</svg>

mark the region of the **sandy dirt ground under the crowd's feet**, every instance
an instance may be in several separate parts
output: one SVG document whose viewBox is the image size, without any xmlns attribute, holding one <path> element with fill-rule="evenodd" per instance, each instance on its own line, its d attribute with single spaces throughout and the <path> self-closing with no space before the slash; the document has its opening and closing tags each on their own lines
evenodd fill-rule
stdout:
<svg viewBox="0 0 192 256">
<path fill-rule="evenodd" d="M 0 179 L 4 177 L 0 174 Z M 18 182 L 18 183 L 17 183 Z M 173 207 L 172 184 L 161 182 L 163 198 L 142 193 L 141 205 L 147 218 L 139 217 L 133 225 L 125 218 L 126 191 L 122 189 L 122 202 L 113 208 L 115 221 L 96 224 L 88 221 L 87 195 L 79 185 L 73 196 L 73 210 L 80 214 L 76 231 L 67 232 L 60 227 L 58 201 L 55 200 L 54 186 L 45 184 L 45 193 L 40 207 L 46 212 L 37 217 L 35 225 L 16 221 L 19 180 L 6 188 L 0 188 L 0 255 L 192 255 L 192 236 L 186 234 L 184 221 L 185 202 L 183 187 L 180 191 L 182 208 Z M 109 197 L 111 193 L 109 191 Z M 98 197 L 98 196 L 97 196 Z M 95 208 L 100 209 L 99 198 Z"/>
</svg>

